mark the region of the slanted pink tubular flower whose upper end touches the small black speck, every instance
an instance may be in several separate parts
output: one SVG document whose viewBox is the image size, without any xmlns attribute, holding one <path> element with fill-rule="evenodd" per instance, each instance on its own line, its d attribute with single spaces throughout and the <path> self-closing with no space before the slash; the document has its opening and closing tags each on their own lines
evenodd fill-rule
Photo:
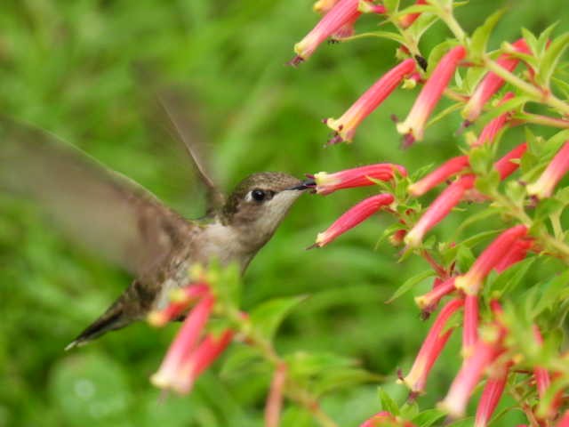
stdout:
<svg viewBox="0 0 569 427">
<path fill-rule="evenodd" d="M 357 126 L 377 109 L 390 93 L 415 70 L 414 60 L 404 60 L 397 67 L 391 68 L 375 82 L 359 99 L 338 119 L 327 118 L 325 124 L 333 129 L 335 135 L 329 143 L 352 141 Z"/>
</svg>

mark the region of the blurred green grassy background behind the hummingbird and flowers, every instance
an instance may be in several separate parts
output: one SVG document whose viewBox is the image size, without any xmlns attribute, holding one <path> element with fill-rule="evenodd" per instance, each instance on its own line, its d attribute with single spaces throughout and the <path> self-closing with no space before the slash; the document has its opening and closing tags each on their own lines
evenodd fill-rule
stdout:
<svg viewBox="0 0 569 427">
<path fill-rule="evenodd" d="M 396 46 L 379 39 L 325 44 L 300 68 L 285 67 L 293 44 L 317 21 L 309 0 L 2 4 L 0 111 L 76 144 L 188 217 L 198 216 L 202 206 L 191 169 L 180 146 L 148 121 L 148 93 L 134 78 L 134 63 L 194 93 L 214 169 L 226 189 L 260 170 L 301 176 L 389 161 L 413 171 L 458 153 L 458 115 L 429 129 L 421 144 L 399 149 L 389 116 L 405 117 L 413 91 L 391 97 L 360 127 L 353 145 L 323 149 L 328 130 L 319 120 L 339 117 L 389 69 Z M 499 4 L 508 2 L 474 0 L 458 15 L 472 29 Z M 559 28 L 569 23 L 562 0 L 509 5 L 493 46 L 516 39 L 521 26 L 540 31 L 554 20 L 561 20 Z M 374 28 L 376 21 L 366 16 L 358 28 Z M 447 36 L 437 24 L 421 48 L 429 52 Z M 384 302 L 426 264 L 413 257 L 397 264 L 397 249 L 387 241 L 375 247 L 392 223 L 387 216 L 374 217 L 325 249 L 304 251 L 318 231 L 369 193 L 302 197 L 247 271 L 244 310 L 271 297 L 310 295 L 285 321 L 278 350 L 355 358 L 390 375 L 386 388 L 403 401 L 405 389 L 393 379 L 397 367 L 410 366 L 429 326 L 412 300 L 429 283 L 390 305 Z M 221 362 L 190 396 L 159 399 L 148 375 L 175 325 L 154 330 L 138 324 L 63 352 L 130 278 L 60 238 L 34 205 L 0 195 L 0 212 L 1 427 L 261 425 L 269 381 L 263 370 L 218 375 Z M 449 236 L 460 222 L 459 214 L 451 215 L 437 234 Z M 422 407 L 445 393 L 460 361 L 457 338 L 437 364 Z M 343 426 L 357 425 L 378 410 L 376 387 L 335 393 L 324 399 L 325 410 Z M 292 414 L 290 407 L 285 410 Z M 522 421 L 511 416 L 512 425 Z"/>
</svg>

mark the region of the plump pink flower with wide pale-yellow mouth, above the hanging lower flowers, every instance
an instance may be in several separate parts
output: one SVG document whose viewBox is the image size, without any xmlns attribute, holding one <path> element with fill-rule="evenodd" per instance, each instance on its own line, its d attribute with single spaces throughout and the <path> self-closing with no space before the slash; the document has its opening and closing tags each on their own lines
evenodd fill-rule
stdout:
<svg viewBox="0 0 569 427">
<path fill-rule="evenodd" d="M 488 273 L 499 264 L 504 254 L 508 253 L 509 248 L 517 240 L 525 238 L 526 234 L 527 227 L 525 227 L 525 225 L 517 225 L 502 232 L 501 235 L 478 256 L 477 261 L 472 264 L 470 270 L 466 274 L 456 278 L 455 286 L 463 290 L 466 294 L 476 295 Z"/>
</svg>

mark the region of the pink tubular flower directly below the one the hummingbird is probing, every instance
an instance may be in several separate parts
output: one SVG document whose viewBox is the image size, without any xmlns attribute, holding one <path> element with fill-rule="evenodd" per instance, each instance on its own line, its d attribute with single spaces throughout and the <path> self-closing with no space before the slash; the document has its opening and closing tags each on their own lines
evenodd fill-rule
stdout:
<svg viewBox="0 0 569 427">
<path fill-rule="evenodd" d="M 322 233 L 318 233 L 317 241 L 310 247 L 322 247 L 328 245 L 335 238 L 353 229 L 360 222 L 365 221 L 375 214 L 383 206 L 391 205 L 395 198 L 390 194 L 378 194 L 367 197 L 357 205 L 351 207 L 346 213 L 342 214 L 333 224 Z"/>
</svg>

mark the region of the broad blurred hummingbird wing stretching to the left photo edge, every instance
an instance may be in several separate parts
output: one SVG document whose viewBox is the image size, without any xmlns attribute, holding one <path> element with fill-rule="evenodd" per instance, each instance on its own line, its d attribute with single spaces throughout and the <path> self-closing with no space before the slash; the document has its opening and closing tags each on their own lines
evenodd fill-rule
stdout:
<svg viewBox="0 0 569 427">
<path fill-rule="evenodd" d="M 69 238 L 137 276 L 193 227 L 124 175 L 7 117 L 0 117 L 0 189 L 40 202 Z"/>
</svg>

